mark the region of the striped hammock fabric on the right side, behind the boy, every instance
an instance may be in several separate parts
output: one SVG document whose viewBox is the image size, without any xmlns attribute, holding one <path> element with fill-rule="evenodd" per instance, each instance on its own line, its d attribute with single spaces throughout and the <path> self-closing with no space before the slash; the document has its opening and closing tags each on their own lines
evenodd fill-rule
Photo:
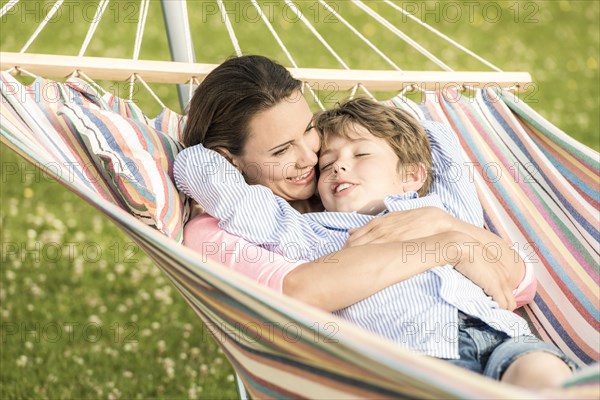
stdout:
<svg viewBox="0 0 600 400">
<path fill-rule="evenodd" d="M 537 333 L 582 364 L 598 361 L 598 153 L 510 93 L 427 93 L 420 107 L 459 133 L 488 228 L 537 260 L 538 293 L 523 310 Z"/>
</svg>

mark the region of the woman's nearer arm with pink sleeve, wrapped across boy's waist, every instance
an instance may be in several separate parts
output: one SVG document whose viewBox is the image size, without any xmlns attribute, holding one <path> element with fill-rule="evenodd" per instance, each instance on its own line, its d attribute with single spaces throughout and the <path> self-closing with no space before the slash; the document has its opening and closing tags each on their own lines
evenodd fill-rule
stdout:
<svg viewBox="0 0 600 400">
<path fill-rule="evenodd" d="M 472 280 L 486 282 L 484 290 L 498 304 L 510 308 L 510 288 L 502 271 L 481 268 L 484 261 L 480 252 L 469 257 L 468 250 L 476 243 L 462 233 L 446 232 L 403 243 L 346 248 L 306 262 L 291 261 L 232 235 L 207 214 L 194 217 L 184 230 L 184 244 L 196 250 L 203 261 L 216 261 L 262 285 L 329 311 L 347 307 L 446 262 L 465 275 L 472 270 Z M 444 251 L 435 250 L 436 246 Z M 422 251 L 431 249 L 434 251 Z"/>
</svg>

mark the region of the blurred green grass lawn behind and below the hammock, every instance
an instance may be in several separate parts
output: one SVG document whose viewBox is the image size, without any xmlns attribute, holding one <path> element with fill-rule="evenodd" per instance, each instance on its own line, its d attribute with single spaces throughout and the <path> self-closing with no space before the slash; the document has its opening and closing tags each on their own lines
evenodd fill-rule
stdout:
<svg viewBox="0 0 600 400">
<path fill-rule="evenodd" d="M 43 16 L 42 10 L 48 10 L 45 5 L 54 1 L 25 3 L 28 14 L 20 12 L 0 22 L 2 51 L 19 51 Z M 97 1 L 70 2 L 73 16 L 81 15 L 88 3 Z M 382 29 L 356 8 L 346 2 L 335 3 L 404 69 L 432 68 L 407 46 L 382 35 Z M 398 3 L 410 3 L 427 23 L 503 70 L 530 72 L 535 91 L 527 101 L 565 132 L 599 149 L 598 2 L 471 2 L 472 8 L 457 2 Z M 6 1 L 0 2 L 0 6 L 4 4 Z M 101 22 L 86 54 L 131 57 L 138 4 L 111 2 L 110 18 Z M 203 4 L 204 11 L 212 10 L 207 3 L 188 0 L 190 21 L 195 21 L 196 57 L 199 62 L 218 63 L 233 54 L 233 47 L 220 18 L 202 13 Z M 314 4 L 305 1 L 300 5 L 311 20 L 324 22 L 327 13 L 321 10 L 317 15 Z M 390 15 L 383 3 L 369 4 Z M 458 4 L 462 14 L 457 17 L 452 13 L 456 9 L 444 4 Z M 262 24 L 244 23 L 242 17 L 252 15 L 243 14 L 243 7 L 236 11 L 231 2 L 227 5 L 236 31 L 244 32 L 240 44 L 246 53 L 262 53 L 285 62 Z M 501 7 L 501 16 L 492 13 L 498 10 L 496 5 Z M 431 11 L 435 7 L 440 17 Z M 280 15 L 282 9 L 272 8 L 274 15 Z M 93 10 L 88 9 L 90 15 Z M 157 1 L 150 3 L 149 18 L 140 58 L 168 59 Z M 452 67 L 483 68 L 419 26 L 405 23 L 401 16 L 389 19 Z M 123 23 L 113 26 L 111 20 Z M 336 66 L 318 42 L 306 38 L 306 28 L 300 23 L 273 23 L 300 66 Z M 48 25 L 29 51 L 77 54 L 87 26 L 85 21 L 71 21 L 63 14 Z M 368 56 L 364 46 L 353 42 L 341 24 L 324 23 L 320 29 L 350 66 L 384 66 Z M 102 84 L 121 96 L 127 93 L 125 84 Z M 172 87 L 152 87 L 168 106 L 177 109 Z M 153 115 L 159 107 L 148 98 L 142 95 L 139 101 Z M 150 259 L 96 210 L 5 146 L 0 157 L 0 396 L 235 397 L 232 371 L 224 355 Z"/>
</svg>

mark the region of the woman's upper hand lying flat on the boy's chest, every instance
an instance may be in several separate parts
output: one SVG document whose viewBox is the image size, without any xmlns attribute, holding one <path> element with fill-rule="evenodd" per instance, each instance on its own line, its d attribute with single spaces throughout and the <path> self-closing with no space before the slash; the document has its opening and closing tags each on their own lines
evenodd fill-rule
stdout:
<svg viewBox="0 0 600 400">
<path fill-rule="evenodd" d="M 432 236 L 453 230 L 456 221 L 456 218 L 437 207 L 394 211 L 353 229 L 344 247 L 403 242 Z"/>
</svg>

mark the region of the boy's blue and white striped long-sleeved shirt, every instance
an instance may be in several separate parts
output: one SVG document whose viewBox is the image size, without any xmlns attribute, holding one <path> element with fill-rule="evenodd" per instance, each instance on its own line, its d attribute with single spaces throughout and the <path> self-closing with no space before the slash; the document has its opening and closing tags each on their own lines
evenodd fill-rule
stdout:
<svg viewBox="0 0 600 400">
<path fill-rule="evenodd" d="M 483 212 L 456 135 L 436 122 L 423 125 L 432 148 L 430 194 L 388 196 L 383 213 L 437 206 L 482 226 Z M 292 260 L 312 260 L 339 250 L 348 239 L 348 230 L 377 217 L 341 212 L 300 214 L 270 189 L 246 184 L 227 160 L 201 145 L 179 153 L 174 175 L 178 188 L 220 220 L 222 229 Z M 510 336 L 530 334 L 522 318 L 499 309 L 481 288 L 451 266 L 430 269 L 334 314 L 419 353 L 458 358 L 458 310 Z"/>
</svg>

